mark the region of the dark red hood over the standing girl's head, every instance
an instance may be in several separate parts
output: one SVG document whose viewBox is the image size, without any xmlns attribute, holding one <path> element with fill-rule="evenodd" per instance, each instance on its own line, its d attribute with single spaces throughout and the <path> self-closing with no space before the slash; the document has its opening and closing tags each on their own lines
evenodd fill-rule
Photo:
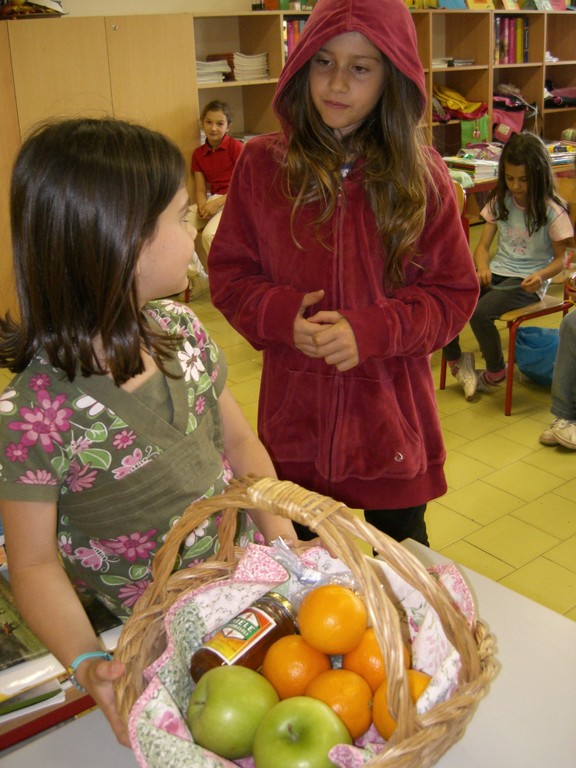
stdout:
<svg viewBox="0 0 576 768">
<path fill-rule="evenodd" d="M 418 86 L 423 113 L 427 101 L 424 70 L 404 0 L 318 0 L 278 81 L 274 109 L 281 122 L 286 124 L 286 115 L 278 107 L 279 94 L 319 48 L 345 32 L 363 34 Z"/>
</svg>

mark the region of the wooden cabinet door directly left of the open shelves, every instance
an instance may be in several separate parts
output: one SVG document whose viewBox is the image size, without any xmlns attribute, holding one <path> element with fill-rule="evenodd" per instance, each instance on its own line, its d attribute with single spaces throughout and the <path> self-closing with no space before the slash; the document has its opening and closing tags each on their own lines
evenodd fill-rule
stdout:
<svg viewBox="0 0 576 768">
<path fill-rule="evenodd" d="M 106 18 L 116 117 L 169 136 L 188 166 L 198 135 L 191 14 Z"/>
</svg>

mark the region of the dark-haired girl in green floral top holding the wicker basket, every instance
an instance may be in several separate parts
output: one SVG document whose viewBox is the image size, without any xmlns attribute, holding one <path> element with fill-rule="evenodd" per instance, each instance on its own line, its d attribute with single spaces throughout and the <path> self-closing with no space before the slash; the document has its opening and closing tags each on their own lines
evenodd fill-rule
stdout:
<svg viewBox="0 0 576 768">
<path fill-rule="evenodd" d="M 164 136 L 116 120 L 48 124 L 13 171 L 19 320 L 0 320 L 0 514 L 22 615 L 102 707 L 118 739 L 113 681 L 79 595 L 125 619 L 168 531 L 235 474 L 275 476 L 226 387 L 226 363 L 186 287 L 196 231 L 185 164 Z M 238 542 L 253 538 L 239 512 Z M 292 523 L 253 512 L 260 541 Z M 219 516 L 176 567 L 218 548 Z"/>
</svg>

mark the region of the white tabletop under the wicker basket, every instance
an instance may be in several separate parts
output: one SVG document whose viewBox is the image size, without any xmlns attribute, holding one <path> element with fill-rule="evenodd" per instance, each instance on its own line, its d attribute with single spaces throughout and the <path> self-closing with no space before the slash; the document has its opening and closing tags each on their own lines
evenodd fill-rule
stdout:
<svg viewBox="0 0 576 768">
<path fill-rule="evenodd" d="M 448 562 L 413 541 L 425 565 Z M 461 568 L 501 669 L 438 768 L 576 768 L 576 622 Z M 0 756 L 2 768 L 135 768 L 99 710 Z M 185 768 L 182 766 L 181 768 Z"/>
</svg>

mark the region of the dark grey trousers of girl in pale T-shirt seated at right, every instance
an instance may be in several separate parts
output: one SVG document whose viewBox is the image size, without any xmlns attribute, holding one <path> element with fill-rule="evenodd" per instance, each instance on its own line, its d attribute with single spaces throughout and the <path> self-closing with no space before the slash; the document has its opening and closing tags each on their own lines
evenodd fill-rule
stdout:
<svg viewBox="0 0 576 768">
<path fill-rule="evenodd" d="M 500 331 L 494 321 L 504 312 L 525 307 L 535 301 L 538 301 L 535 293 L 526 293 L 520 288 L 513 291 L 482 289 L 474 314 L 470 318 L 470 327 L 476 336 L 488 371 L 496 373 L 505 367 Z"/>
</svg>

